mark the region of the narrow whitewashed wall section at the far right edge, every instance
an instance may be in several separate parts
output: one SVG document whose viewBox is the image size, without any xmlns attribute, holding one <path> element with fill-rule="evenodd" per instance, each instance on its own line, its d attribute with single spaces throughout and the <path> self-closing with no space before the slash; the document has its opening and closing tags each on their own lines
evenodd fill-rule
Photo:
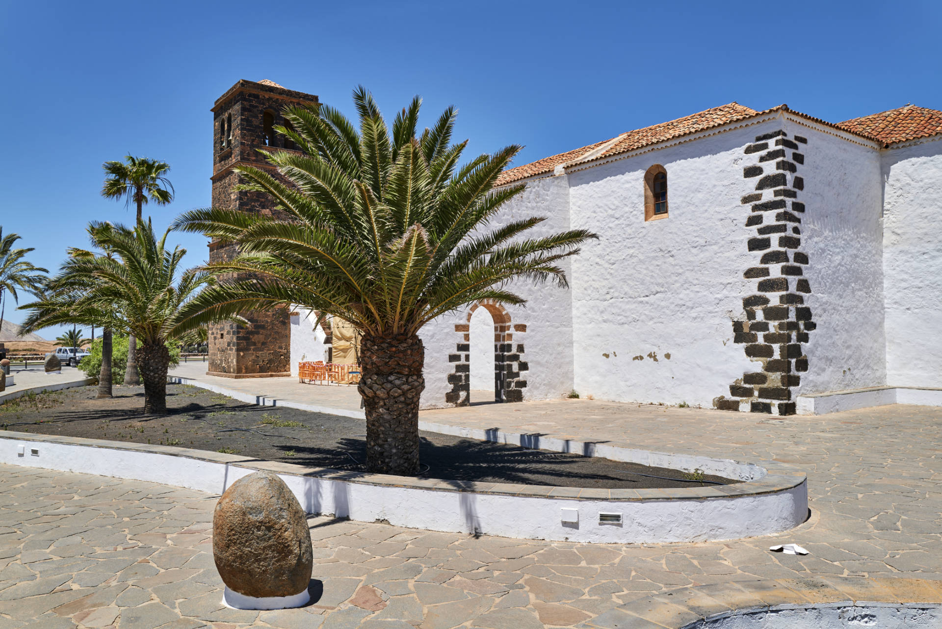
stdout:
<svg viewBox="0 0 942 629">
<path fill-rule="evenodd" d="M 942 387 L 942 141 L 883 152 L 886 384 Z"/>
</svg>

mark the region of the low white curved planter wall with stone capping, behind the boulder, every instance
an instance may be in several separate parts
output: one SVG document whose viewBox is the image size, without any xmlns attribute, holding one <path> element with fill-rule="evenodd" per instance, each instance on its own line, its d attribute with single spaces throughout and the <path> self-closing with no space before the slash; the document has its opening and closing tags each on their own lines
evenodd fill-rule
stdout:
<svg viewBox="0 0 942 629">
<path fill-rule="evenodd" d="M 641 458 L 642 452 L 625 450 L 622 460 Z M 661 456 L 647 455 L 658 460 Z M 695 456 L 688 460 L 708 473 L 714 473 L 709 468 L 720 461 Z M 137 479 L 214 494 L 252 472 L 269 470 L 279 474 L 306 513 L 507 538 L 593 543 L 714 541 L 787 531 L 808 514 L 807 482 L 800 472 L 765 474 L 760 480 L 728 488 L 626 489 L 625 498 L 615 497 L 619 489 L 612 489 L 610 497 L 608 489 L 534 488 L 545 491 L 537 494 L 517 485 L 484 483 L 475 490 L 467 484 L 434 479 L 349 475 L 248 456 L 12 431 L 0 431 L 0 463 Z M 734 477 L 765 472 L 755 464 L 739 465 L 743 469 L 731 474 Z M 578 511 L 575 518 L 573 509 Z M 603 514 L 620 517 L 613 522 L 603 519 Z"/>
</svg>

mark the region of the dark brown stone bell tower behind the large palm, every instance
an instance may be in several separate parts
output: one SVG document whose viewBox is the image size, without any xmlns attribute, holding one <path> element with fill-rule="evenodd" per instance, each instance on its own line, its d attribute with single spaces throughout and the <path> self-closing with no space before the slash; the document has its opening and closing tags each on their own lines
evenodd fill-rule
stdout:
<svg viewBox="0 0 942 629">
<path fill-rule="evenodd" d="M 248 165 L 274 172 L 256 149 L 294 150 L 294 144 L 275 134 L 273 126 L 287 126 L 282 110 L 291 105 L 317 103 L 317 96 L 286 90 L 277 83 L 240 80 L 219 96 L 213 111 L 213 207 L 271 214 L 275 203 L 260 192 L 235 190 L 243 177 L 235 166 Z M 209 261 L 231 260 L 238 244 L 209 244 Z M 248 312 L 249 325 L 214 323 L 209 326 L 209 375 L 229 378 L 264 378 L 290 375 L 291 330 L 286 309 Z"/>
</svg>

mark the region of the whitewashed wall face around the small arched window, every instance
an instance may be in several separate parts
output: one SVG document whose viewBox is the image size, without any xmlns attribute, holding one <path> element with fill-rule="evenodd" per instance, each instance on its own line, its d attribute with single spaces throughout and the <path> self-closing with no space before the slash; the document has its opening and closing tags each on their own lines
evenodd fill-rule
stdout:
<svg viewBox="0 0 942 629">
<path fill-rule="evenodd" d="M 575 388 L 595 398 L 712 406 L 750 370 L 733 343 L 744 319 L 743 147 L 753 124 L 570 174 L 572 223 L 602 240 L 573 261 Z M 668 177 L 667 219 L 644 221 L 643 175 Z"/>
</svg>

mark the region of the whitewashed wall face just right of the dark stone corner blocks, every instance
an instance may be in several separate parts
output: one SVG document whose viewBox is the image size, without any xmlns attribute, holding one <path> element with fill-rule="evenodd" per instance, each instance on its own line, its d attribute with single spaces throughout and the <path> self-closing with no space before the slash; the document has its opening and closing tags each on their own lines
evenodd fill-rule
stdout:
<svg viewBox="0 0 942 629">
<path fill-rule="evenodd" d="M 798 393 L 886 383 L 880 154 L 874 143 L 788 124 L 804 146 L 806 304 L 816 329 Z"/>
</svg>

